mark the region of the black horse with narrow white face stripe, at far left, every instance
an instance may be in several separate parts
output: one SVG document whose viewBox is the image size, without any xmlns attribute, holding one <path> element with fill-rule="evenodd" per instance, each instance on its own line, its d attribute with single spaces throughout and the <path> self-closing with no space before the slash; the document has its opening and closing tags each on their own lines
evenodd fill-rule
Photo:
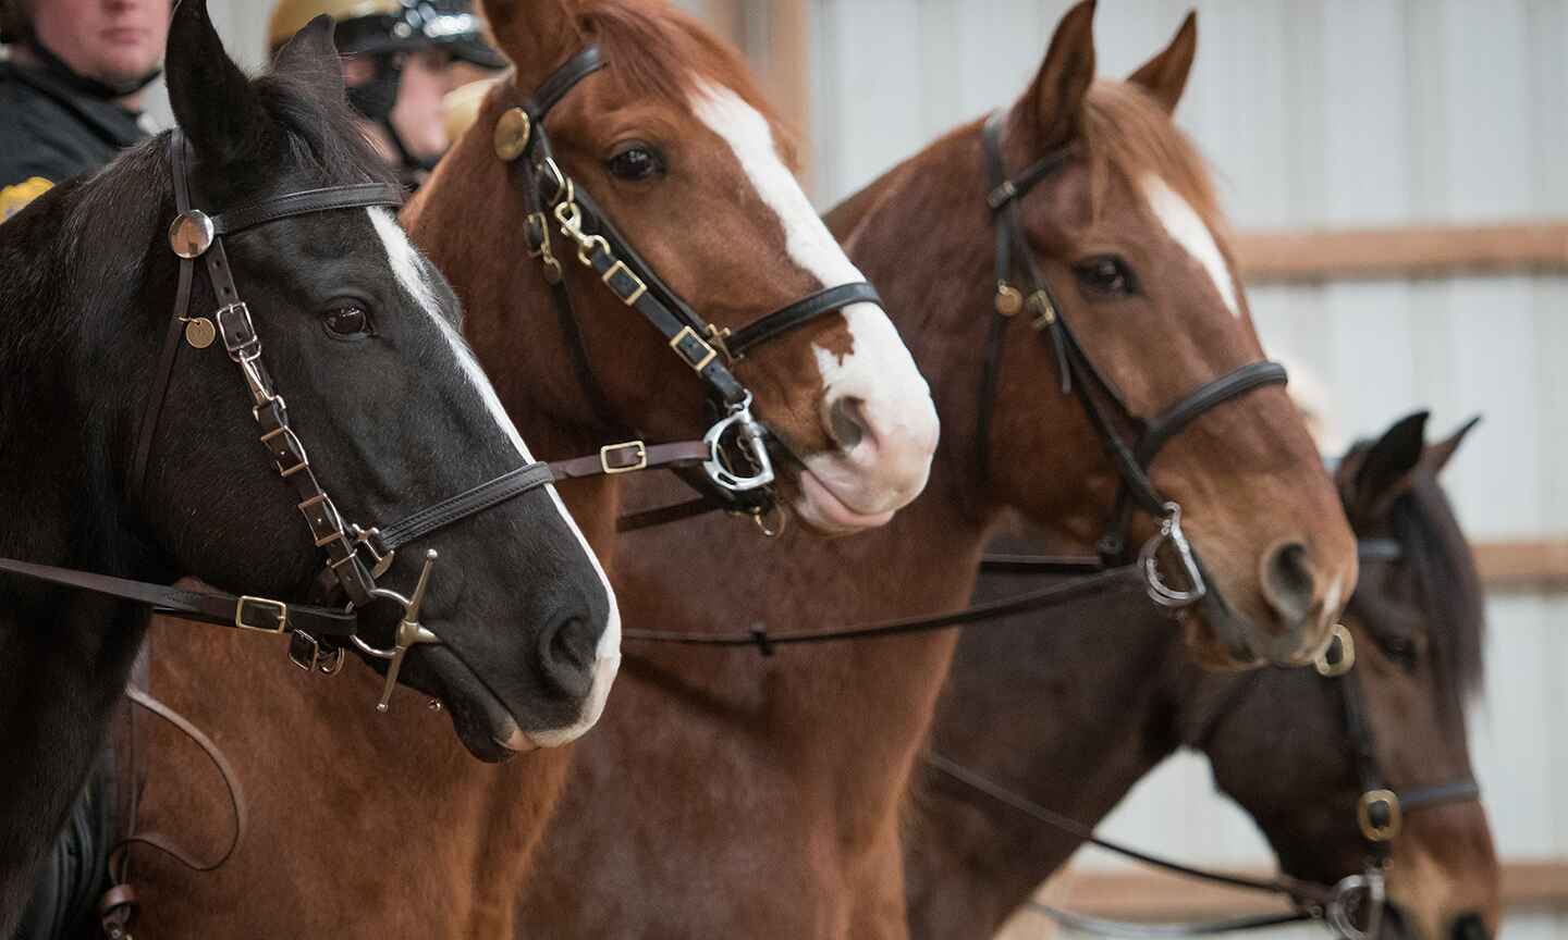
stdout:
<svg viewBox="0 0 1568 940">
<path fill-rule="evenodd" d="M 205 3 L 185 0 L 168 83 L 182 138 L 135 147 L 0 226 L 0 556 L 160 584 L 196 575 L 256 595 L 201 595 L 229 605 L 230 625 L 284 633 L 307 616 L 295 602 L 323 556 L 368 595 L 368 617 L 411 592 L 434 547 L 444 561 L 414 592 L 422 606 L 398 605 L 439 644 L 414 647 L 401 682 L 441 696 L 480 755 L 577 722 L 596 666 L 575 653 L 594 649 L 613 597 L 547 487 L 458 514 L 375 575 L 348 540 L 347 520 L 398 522 L 533 459 L 461 340 L 452 291 L 398 230 L 400 194 L 343 130 L 329 20 L 251 81 Z M 171 233 L 176 175 L 209 215 L 183 213 Z M 317 495 L 301 501 L 306 490 Z M 41 584 L 0 575 L 0 937 L 146 631 L 146 605 Z M 390 620 L 365 625 L 367 642 L 387 642 Z M 235 705 L 267 724 L 278 689 L 229 685 L 257 672 L 257 639 L 232 645 L 204 696 L 254 694 Z M 358 672 L 354 707 L 368 710 L 379 678 Z"/>
</svg>

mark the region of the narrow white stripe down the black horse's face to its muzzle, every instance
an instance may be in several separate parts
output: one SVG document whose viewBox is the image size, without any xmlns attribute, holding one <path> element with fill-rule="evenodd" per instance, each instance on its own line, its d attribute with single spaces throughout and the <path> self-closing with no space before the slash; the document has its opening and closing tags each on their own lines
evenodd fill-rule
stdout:
<svg viewBox="0 0 1568 940">
<path fill-rule="evenodd" d="M 445 337 L 447 345 L 452 348 L 453 357 L 458 360 L 458 367 L 463 374 L 474 385 L 478 393 L 480 401 L 485 403 L 486 410 L 495 418 L 495 425 L 502 429 L 506 440 L 516 448 L 517 456 L 525 462 L 533 462 L 533 454 L 528 453 L 528 446 L 522 442 L 522 436 L 517 434 L 516 425 L 506 415 L 506 409 L 502 407 L 500 398 L 495 395 L 495 387 L 491 385 L 489 378 L 485 370 L 480 368 L 478 360 L 474 357 L 474 351 L 469 349 L 467 342 L 458 335 L 452 323 L 441 315 L 439 302 L 436 301 L 436 291 L 431 288 L 430 280 L 425 276 L 425 260 L 420 257 L 419 251 L 408 240 L 403 227 L 397 224 L 397 216 L 392 210 L 383 207 L 373 207 L 367 210 L 370 213 L 370 224 L 375 227 L 376 235 L 381 238 L 381 244 L 387 252 L 387 263 L 392 266 L 392 274 L 397 277 L 398 285 L 408 291 L 408 296 L 419 304 L 419 309 L 430 315 L 441 329 L 441 335 Z M 610 694 L 610 683 L 615 680 L 616 667 L 621 661 L 621 606 L 616 603 L 615 591 L 610 588 L 610 578 L 604 573 L 604 566 L 599 564 L 599 556 L 594 555 L 593 548 L 588 545 L 588 539 L 583 537 L 580 528 L 577 528 L 577 520 L 572 514 L 566 511 L 566 504 L 561 503 L 561 497 L 555 492 L 555 484 L 547 484 L 544 492 L 550 495 L 550 503 L 554 503 L 555 511 L 560 514 L 566 528 L 575 536 L 577 544 L 582 547 L 583 555 L 588 556 L 588 562 L 593 566 L 596 575 L 599 575 L 599 584 L 604 588 L 604 595 L 608 600 L 610 616 L 605 622 L 604 633 L 599 636 L 599 642 L 594 647 L 596 663 L 594 663 L 594 678 L 593 688 L 588 692 L 588 700 L 583 705 L 583 711 L 568 728 L 552 730 L 552 732 L 535 732 L 528 738 L 541 746 L 552 747 L 555 744 L 564 744 L 583 732 L 593 727 L 599 721 L 599 714 L 604 711 L 605 697 Z"/>
</svg>

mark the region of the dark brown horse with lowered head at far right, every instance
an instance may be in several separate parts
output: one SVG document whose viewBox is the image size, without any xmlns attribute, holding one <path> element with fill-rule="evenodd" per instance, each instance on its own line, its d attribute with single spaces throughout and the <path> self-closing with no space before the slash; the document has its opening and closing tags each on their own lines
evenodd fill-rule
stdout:
<svg viewBox="0 0 1568 940">
<path fill-rule="evenodd" d="M 1463 431 L 1422 446 L 1425 415 L 1352 450 L 1338 470 L 1356 533 L 1397 553 L 1363 562 L 1345 609 L 1350 669 L 1383 786 L 1471 779 L 1465 696 L 1480 677 L 1475 561 L 1436 483 Z M 989 575 L 982 594 L 1018 591 Z M 1333 885 L 1359 874 L 1364 783 L 1347 732 L 1347 675 L 1312 669 L 1214 675 L 1181 661 L 1134 592 L 971 630 L 958 644 L 931 749 L 1035 804 L 1093 826 L 1179 747 L 1207 755 L 1281 868 Z M 1181 812 L 1179 808 L 1173 808 Z M 911 793 L 906 840 L 916 937 L 989 937 L 1080 840 L 930 771 Z M 1385 932 L 1480 940 L 1497 929 L 1497 859 L 1479 802 L 1405 808 L 1389 843 Z M 1400 931 L 1399 927 L 1403 927 Z"/>
</svg>

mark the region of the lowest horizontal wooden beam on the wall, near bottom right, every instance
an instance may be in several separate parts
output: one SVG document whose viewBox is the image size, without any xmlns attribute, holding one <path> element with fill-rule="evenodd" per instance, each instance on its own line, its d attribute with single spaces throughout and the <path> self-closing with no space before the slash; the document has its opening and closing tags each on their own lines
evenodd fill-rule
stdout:
<svg viewBox="0 0 1568 940">
<path fill-rule="evenodd" d="M 1250 873 L 1269 877 L 1269 873 Z M 1267 895 L 1195 882 L 1154 871 L 1068 870 L 1046 882 L 1038 898 L 1096 916 L 1190 920 L 1286 910 Z M 1505 862 L 1505 909 L 1568 909 L 1568 859 Z"/>
</svg>

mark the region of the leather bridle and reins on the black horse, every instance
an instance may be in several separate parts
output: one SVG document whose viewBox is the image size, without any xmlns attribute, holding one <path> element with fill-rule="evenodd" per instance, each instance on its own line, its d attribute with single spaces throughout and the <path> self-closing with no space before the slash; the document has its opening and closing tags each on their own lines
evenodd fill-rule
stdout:
<svg viewBox="0 0 1568 940">
<path fill-rule="evenodd" d="M 194 208 L 199 199 L 188 174 L 190 144 L 179 130 L 169 136 L 169 157 L 176 204 L 174 222 L 169 226 L 169 248 L 179 257 L 179 282 L 174 313 L 136 432 L 136 450 L 127 481 L 129 498 L 140 503 L 144 497 L 147 462 L 157 442 L 158 418 L 180 349 L 190 346 L 199 351 L 212 346 L 215 340 L 221 340 L 223 351 L 238 367 L 251 396 L 251 417 L 260 428 L 260 442 L 267 448 L 271 465 L 293 489 L 298 497 L 296 506 L 310 530 L 312 542 L 326 553 L 326 562 L 310 591 L 310 603 L 257 595 L 235 597 L 216 591 L 180 591 L 163 584 L 16 559 L 0 559 L 0 572 L 130 600 L 149 606 L 158 614 L 172 614 L 238 630 L 289 634 L 289 658 L 307 672 L 326 675 L 339 672 L 343 663 L 343 647 L 353 644 L 365 656 L 387 661 L 386 683 L 376 705 L 378 711 L 386 711 L 408 650 L 419 644 L 441 642 L 441 638 L 419 622 L 436 551 L 425 553 L 414 591 L 405 597 L 378 584 L 378 578 L 392 566 L 397 550 L 475 512 L 550 483 L 550 467 L 538 462 L 524 464 L 386 528 L 361 528 L 347 523 L 317 479 L 304 443 L 289 423 L 289 407 L 284 396 L 278 393 L 262 362 L 262 338 L 256 331 L 249 307 L 234 284 L 223 237 L 318 212 L 397 207 L 403 202 L 403 193 L 392 183 L 351 183 L 285 193 L 241 208 L 209 215 Z M 215 310 L 205 316 L 190 315 L 196 258 L 204 262 L 213 290 Z M 372 645 L 361 636 L 361 627 L 365 625 L 362 617 L 367 608 L 376 602 L 392 602 L 401 609 L 392 645 L 386 649 Z"/>
</svg>

